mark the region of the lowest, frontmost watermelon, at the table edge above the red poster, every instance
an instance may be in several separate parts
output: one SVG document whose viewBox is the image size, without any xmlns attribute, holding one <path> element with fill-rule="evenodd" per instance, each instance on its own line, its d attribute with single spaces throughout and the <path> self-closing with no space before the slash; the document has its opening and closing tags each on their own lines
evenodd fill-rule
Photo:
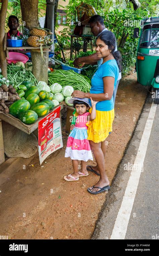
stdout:
<svg viewBox="0 0 159 256">
<path fill-rule="evenodd" d="M 33 110 L 25 110 L 18 116 L 20 121 L 24 124 L 34 124 L 38 120 L 38 115 Z"/>
</svg>

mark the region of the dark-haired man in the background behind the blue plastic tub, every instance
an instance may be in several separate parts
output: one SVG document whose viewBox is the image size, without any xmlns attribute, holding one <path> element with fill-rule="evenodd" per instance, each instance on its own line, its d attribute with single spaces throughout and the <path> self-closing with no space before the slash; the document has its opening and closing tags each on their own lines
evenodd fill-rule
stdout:
<svg viewBox="0 0 159 256">
<path fill-rule="evenodd" d="M 14 35 L 14 36 L 22 35 L 17 29 L 19 27 L 19 21 L 16 16 L 14 16 L 14 15 L 9 16 L 8 27 L 10 30 L 7 33 L 7 39 L 11 39 L 11 35 Z"/>
</svg>

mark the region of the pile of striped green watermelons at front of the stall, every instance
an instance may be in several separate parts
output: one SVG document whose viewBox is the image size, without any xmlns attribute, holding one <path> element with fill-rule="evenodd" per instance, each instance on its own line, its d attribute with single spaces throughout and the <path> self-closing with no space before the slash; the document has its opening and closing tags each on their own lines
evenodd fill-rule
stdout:
<svg viewBox="0 0 159 256">
<path fill-rule="evenodd" d="M 15 101 L 9 107 L 9 114 L 18 118 L 27 125 L 34 124 L 39 117 L 46 116 L 54 108 L 53 97 L 47 91 L 41 91 L 29 81 L 22 83 L 25 94 L 20 100 Z"/>
</svg>

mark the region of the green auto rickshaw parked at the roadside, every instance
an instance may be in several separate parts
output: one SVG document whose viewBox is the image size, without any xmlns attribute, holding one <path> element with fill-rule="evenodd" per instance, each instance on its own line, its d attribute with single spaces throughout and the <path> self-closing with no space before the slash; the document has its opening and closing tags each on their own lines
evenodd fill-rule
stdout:
<svg viewBox="0 0 159 256">
<path fill-rule="evenodd" d="M 142 20 L 139 28 L 134 29 L 134 37 L 139 38 L 136 71 L 138 82 L 151 86 L 155 104 L 159 104 L 159 17 Z"/>
</svg>

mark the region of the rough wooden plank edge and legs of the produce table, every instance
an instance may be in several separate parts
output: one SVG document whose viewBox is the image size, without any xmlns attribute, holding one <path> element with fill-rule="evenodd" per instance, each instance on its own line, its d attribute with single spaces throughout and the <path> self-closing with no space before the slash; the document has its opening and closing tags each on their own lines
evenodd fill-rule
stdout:
<svg viewBox="0 0 159 256">
<path fill-rule="evenodd" d="M 60 104 L 61 108 L 60 108 L 60 120 L 61 120 L 61 110 L 63 109 L 63 104 Z M 59 107 L 56 106 L 54 109 L 52 109 L 50 111 L 53 112 L 54 110 L 56 110 Z M 4 163 L 5 158 L 4 158 L 4 146 L 3 146 L 3 131 L 2 131 L 2 122 L 7 122 L 10 125 L 20 129 L 21 131 L 27 133 L 27 134 L 31 134 L 32 132 L 35 132 L 36 129 L 38 129 L 38 123 L 39 121 L 41 121 L 44 117 L 38 118 L 37 122 L 31 125 L 26 125 L 24 123 L 22 123 L 19 119 L 13 117 L 10 114 L 4 114 L 0 111 L 0 165 L 2 163 Z M 38 133 L 38 130 L 37 130 Z M 37 135 L 37 134 L 36 134 Z"/>
</svg>

